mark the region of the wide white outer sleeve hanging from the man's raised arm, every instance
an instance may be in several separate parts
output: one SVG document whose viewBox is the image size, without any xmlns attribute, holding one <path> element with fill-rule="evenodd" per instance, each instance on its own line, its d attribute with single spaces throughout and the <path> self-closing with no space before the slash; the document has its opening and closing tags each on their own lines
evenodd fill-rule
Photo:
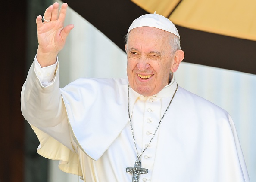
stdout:
<svg viewBox="0 0 256 182">
<path fill-rule="evenodd" d="M 50 66 L 50 70 L 52 70 L 53 73 L 49 73 L 52 74 L 52 76 L 50 82 L 48 82 L 49 85 L 45 86 L 41 83 L 38 76 L 40 68 L 39 70 L 35 70 L 36 62 L 37 61 L 34 60 L 31 65 L 26 82 L 22 87 L 22 115 L 28 123 L 32 125 L 33 130 L 37 134 L 41 143 L 40 149 L 46 149 L 47 147 L 43 146 L 47 146 L 49 143 L 48 146 L 53 146 L 50 141 L 53 141 L 53 143 L 57 143 L 58 141 L 59 144 L 56 144 L 57 146 L 62 146 L 62 148 L 66 147 L 72 152 L 76 152 L 77 147 L 70 134 L 67 112 L 59 88 L 58 64 L 55 69 L 53 66 Z M 47 75 L 47 72 L 45 73 Z M 49 150 L 44 150 L 44 152 L 47 151 Z M 42 152 L 41 155 L 51 158 L 50 155 L 46 155 Z"/>
</svg>

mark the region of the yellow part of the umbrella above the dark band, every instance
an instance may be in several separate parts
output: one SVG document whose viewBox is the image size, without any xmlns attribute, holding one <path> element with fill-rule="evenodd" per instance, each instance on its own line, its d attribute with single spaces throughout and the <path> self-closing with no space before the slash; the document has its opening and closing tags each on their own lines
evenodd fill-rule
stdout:
<svg viewBox="0 0 256 182">
<path fill-rule="evenodd" d="M 255 0 L 132 1 L 182 27 L 256 41 Z"/>
</svg>

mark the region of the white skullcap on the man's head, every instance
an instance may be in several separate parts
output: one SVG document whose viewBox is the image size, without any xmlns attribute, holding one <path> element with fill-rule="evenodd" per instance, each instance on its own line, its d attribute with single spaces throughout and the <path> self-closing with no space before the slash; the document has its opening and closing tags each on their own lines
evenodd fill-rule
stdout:
<svg viewBox="0 0 256 182">
<path fill-rule="evenodd" d="M 177 28 L 169 19 L 162 15 L 156 14 L 146 14 L 142 15 L 136 20 L 134 20 L 128 30 L 128 33 L 138 27 L 155 27 L 177 35 L 180 38 Z"/>
</svg>

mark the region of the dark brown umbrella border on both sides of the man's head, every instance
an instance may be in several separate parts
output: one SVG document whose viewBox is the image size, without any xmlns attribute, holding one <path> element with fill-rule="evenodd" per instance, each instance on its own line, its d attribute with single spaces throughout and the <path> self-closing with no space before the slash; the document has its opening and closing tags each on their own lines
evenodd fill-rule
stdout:
<svg viewBox="0 0 256 182">
<path fill-rule="evenodd" d="M 66 0 L 69 6 L 124 51 L 127 30 L 146 14 L 131 0 Z M 185 62 L 256 74 L 256 42 L 177 26 Z"/>
</svg>

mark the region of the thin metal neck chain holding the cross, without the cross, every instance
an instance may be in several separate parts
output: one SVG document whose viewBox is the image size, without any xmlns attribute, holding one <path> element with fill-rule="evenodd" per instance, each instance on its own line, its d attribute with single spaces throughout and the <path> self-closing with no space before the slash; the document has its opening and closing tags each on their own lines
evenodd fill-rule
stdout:
<svg viewBox="0 0 256 182">
<path fill-rule="evenodd" d="M 155 132 L 153 133 L 152 138 L 150 139 L 150 142 L 147 144 L 147 146 L 146 146 L 146 147 L 145 147 L 145 149 L 141 152 L 141 154 L 140 154 L 140 155 L 139 155 L 138 150 L 137 150 L 137 146 L 136 146 L 136 142 L 135 142 L 135 138 L 134 138 L 134 133 L 133 133 L 132 125 L 131 125 L 130 102 L 129 102 L 129 88 L 130 88 L 130 84 L 128 84 L 128 90 L 127 90 L 127 94 L 128 94 L 128 115 L 129 115 L 129 121 L 130 121 L 130 126 L 131 126 L 131 133 L 132 133 L 133 141 L 134 141 L 135 148 L 136 148 L 136 152 L 137 152 L 137 159 L 138 159 L 138 160 L 140 160 L 141 155 L 143 154 L 143 152 L 145 152 L 145 150 L 147 149 L 147 147 L 148 147 L 148 146 L 149 146 L 149 144 L 151 143 L 151 141 L 152 141 L 153 137 L 154 137 L 154 136 L 155 136 L 155 134 L 156 134 L 156 131 L 157 131 L 157 129 L 158 129 L 158 127 L 159 127 L 159 125 L 160 125 L 160 124 L 161 124 L 161 122 L 162 122 L 162 119 L 164 118 L 164 116 L 165 116 L 165 114 L 166 114 L 166 112 L 167 112 L 167 110 L 168 110 L 169 106 L 171 105 L 172 100 L 173 100 L 173 98 L 174 98 L 174 96 L 175 96 L 175 94 L 176 94 L 176 91 L 178 90 L 178 84 L 177 84 L 176 90 L 175 90 L 175 92 L 174 92 L 174 94 L 173 94 L 173 96 L 172 96 L 172 99 L 171 99 L 171 101 L 170 101 L 169 105 L 167 106 L 167 108 L 166 108 L 166 110 L 165 110 L 164 114 L 162 115 L 161 120 L 159 121 L 159 123 L 158 123 L 158 125 L 157 125 L 157 127 L 156 127 Z"/>
</svg>

